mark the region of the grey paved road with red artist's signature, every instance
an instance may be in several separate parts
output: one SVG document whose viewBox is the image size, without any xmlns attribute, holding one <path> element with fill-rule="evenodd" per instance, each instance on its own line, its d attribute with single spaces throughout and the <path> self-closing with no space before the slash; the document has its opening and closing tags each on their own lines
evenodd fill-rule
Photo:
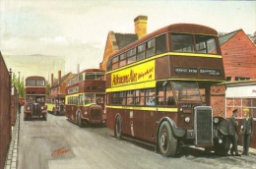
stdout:
<svg viewBox="0 0 256 169">
<path fill-rule="evenodd" d="M 219 157 L 186 148 L 165 158 L 154 148 L 118 141 L 106 128 L 79 128 L 64 116 L 20 122 L 19 169 L 256 168 L 255 156 Z"/>
</svg>

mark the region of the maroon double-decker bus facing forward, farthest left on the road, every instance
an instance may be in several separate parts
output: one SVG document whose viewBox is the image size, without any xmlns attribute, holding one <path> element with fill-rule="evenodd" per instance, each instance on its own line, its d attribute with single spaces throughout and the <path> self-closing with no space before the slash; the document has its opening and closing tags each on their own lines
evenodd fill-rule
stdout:
<svg viewBox="0 0 256 169">
<path fill-rule="evenodd" d="M 47 120 L 47 106 L 45 105 L 46 87 L 43 77 L 28 77 L 25 80 L 24 120 L 39 117 Z"/>
</svg>

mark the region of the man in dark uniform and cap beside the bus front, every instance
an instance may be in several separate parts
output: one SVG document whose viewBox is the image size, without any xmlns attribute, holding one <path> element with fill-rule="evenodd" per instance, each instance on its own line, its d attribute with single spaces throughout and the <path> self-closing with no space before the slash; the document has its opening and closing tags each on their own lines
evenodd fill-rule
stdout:
<svg viewBox="0 0 256 169">
<path fill-rule="evenodd" d="M 235 120 L 235 118 L 237 117 L 237 109 L 234 109 L 232 113 L 233 113 L 232 117 L 229 119 L 229 123 L 228 123 L 228 135 L 229 135 L 229 140 L 232 143 L 230 154 L 233 155 L 233 152 L 235 152 L 235 156 L 240 156 L 237 150 L 238 137 L 236 134 L 238 122 Z"/>
</svg>

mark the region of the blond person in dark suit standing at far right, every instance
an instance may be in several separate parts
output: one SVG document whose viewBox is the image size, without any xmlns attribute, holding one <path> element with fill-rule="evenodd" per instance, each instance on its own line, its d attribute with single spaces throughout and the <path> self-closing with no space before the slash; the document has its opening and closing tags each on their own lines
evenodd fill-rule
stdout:
<svg viewBox="0 0 256 169">
<path fill-rule="evenodd" d="M 248 150 L 250 146 L 250 141 L 252 140 L 254 122 L 253 117 L 250 116 L 250 110 L 248 108 L 243 109 L 243 116 L 241 130 L 242 134 L 242 146 L 243 152 L 242 155 L 249 155 Z"/>
</svg>

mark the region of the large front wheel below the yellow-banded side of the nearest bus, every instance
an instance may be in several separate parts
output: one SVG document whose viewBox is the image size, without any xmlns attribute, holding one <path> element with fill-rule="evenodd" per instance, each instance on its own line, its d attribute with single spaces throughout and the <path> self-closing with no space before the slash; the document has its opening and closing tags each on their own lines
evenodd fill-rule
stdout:
<svg viewBox="0 0 256 169">
<path fill-rule="evenodd" d="M 160 153 L 163 156 L 175 156 L 177 153 L 177 140 L 174 138 L 172 130 L 168 122 L 164 121 L 160 124 L 160 132 L 158 136 Z"/>
</svg>

